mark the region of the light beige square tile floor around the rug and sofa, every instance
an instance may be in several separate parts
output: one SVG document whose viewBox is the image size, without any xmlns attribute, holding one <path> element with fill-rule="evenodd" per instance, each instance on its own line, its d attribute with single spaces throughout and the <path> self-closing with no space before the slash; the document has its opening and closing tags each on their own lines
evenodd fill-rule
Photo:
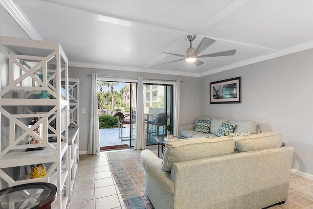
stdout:
<svg viewBox="0 0 313 209">
<path fill-rule="evenodd" d="M 126 208 L 112 177 L 107 152 L 98 156 L 80 155 L 69 209 Z M 288 200 L 271 209 L 313 209 L 313 180 L 291 174 Z"/>
</svg>

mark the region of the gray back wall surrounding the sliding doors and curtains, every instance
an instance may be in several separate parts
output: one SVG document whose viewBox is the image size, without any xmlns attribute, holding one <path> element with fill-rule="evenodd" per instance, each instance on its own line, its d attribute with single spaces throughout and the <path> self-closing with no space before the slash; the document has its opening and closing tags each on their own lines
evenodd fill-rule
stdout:
<svg viewBox="0 0 313 209">
<path fill-rule="evenodd" d="M 155 73 L 142 73 L 120 70 L 102 70 L 91 68 L 69 67 L 68 77 L 78 78 L 80 82 L 80 151 L 87 150 L 87 139 L 89 136 L 90 120 L 90 93 L 92 72 L 99 75 L 132 77 L 142 76 L 143 79 L 176 80 L 181 79 L 181 98 L 180 98 L 180 124 L 189 123 L 199 116 L 199 79 L 197 77 L 186 77 L 178 75 L 162 75 Z M 82 108 L 86 108 L 86 113 L 82 113 Z"/>
</svg>

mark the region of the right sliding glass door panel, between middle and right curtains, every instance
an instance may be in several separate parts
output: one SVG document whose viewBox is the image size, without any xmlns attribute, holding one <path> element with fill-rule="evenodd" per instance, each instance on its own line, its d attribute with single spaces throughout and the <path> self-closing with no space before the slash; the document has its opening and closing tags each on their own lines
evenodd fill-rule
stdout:
<svg viewBox="0 0 313 209">
<path fill-rule="evenodd" d="M 145 83 L 143 92 L 146 145 L 152 145 L 173 125 L 173 85 Z"/>
</svg>

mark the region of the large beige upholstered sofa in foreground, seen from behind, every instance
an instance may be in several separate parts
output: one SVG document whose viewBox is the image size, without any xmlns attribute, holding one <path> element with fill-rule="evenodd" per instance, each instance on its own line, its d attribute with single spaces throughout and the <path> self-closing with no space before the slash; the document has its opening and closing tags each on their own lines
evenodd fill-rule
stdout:
<svg viewBox="0 0 313 209">
<path fill-rule="evenodd" d="M 235 143 L 236 142 L 236 143 Z M 156 209 L 260 209 L 288 197 L 293 147 L 264 132 L 166 144 L 163 161 L 140 155 L 145 192 Z"/>
</svg>

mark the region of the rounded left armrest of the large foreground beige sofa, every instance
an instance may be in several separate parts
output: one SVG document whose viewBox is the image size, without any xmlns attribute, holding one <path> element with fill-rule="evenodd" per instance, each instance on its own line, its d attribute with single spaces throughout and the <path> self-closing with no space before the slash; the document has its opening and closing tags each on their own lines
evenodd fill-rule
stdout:
<svg viewBox="0 0 313 209">
<path fill-rule="evenodd" d="M 150 150 L 145 149 L 140 154 L 140 161 L 146 175 L 149 175 L 160 187 L 174 194 L 174 182 L 171 181 L 171 173 L 162 168 L 162 160 Z"/>
</svg>

